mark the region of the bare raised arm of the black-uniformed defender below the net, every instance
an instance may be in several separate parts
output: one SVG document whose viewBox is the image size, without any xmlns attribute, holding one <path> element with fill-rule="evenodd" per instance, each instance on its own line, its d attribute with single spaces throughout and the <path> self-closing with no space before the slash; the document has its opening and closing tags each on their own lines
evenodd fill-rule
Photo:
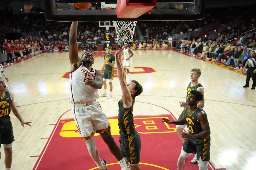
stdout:
<svg viewBox="0 0 256 170">
<path fill-rule="evenodd" d="M 120 49 L 119 51 L 116 52 L 116 68 L 117 68 L 117 77 L 119 79 L 119 83 L 121 85 L 121 90 L 122 90 L 122 93 L 123 93 L 124 107 L 129 108 L 129 107 L 132 106 L 132 96 L 131 96 L 131 92 L 127 88 L 126 75 L 125 75 L 125 72 L 124 72 L 123 65 L 121 63 L 121 57 L 122 57 L 122 54 L 123 54 L 124 47 L 125 46 L 123 46 L 122 49 Z"/>
</svg>

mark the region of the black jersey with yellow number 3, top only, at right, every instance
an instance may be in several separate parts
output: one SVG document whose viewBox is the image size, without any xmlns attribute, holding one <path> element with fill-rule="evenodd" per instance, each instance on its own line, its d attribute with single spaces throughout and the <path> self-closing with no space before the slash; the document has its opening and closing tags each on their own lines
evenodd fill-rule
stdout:
<svg viewBox="0 0 256 170">
<path fill-rule="evenodd" d="M 188 108 L 189 106 L 186 108 L 184 115 L 185 115 L 186 122 L 188 124 L 188 128 L 190 130 L 189 134 L 194 135 L 194 134 L 201 133 L 203 129 L 200 122 L 197 121 L 197 115 L 202 111 L 204 112 L 204 110 L 200 107 L 197 107 L 194 113 L 189 115 Z"/>
</svg>

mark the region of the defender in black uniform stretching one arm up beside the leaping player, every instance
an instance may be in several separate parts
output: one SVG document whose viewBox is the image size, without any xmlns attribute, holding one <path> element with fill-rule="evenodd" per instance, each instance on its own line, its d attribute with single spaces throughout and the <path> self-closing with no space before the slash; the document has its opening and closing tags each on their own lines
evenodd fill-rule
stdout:
<svg viewBox="0 0 256 170">
<path fill-rule="evenodd" d="M 120 133 L 120 150 L 132 170 L 140 170 L 140 135 L 135 130 L 133 122 L 133 106 L 135 97 L 143 91 L 139 82 L 132 80 L 126 84 L 126 74 L 121 63 L 121 56 L 125 46 L 116 52 L 117 76 L 123 93 L 122 99 L 118 102 L 118 126 Z"/>
</svg>

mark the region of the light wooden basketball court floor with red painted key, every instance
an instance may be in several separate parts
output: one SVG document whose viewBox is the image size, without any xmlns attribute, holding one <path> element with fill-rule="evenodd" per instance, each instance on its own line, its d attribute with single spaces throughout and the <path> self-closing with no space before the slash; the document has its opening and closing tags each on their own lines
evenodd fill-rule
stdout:
<svg viewBox="0 0 256 170">
<path fill-rule="evenodd" d="M 175 119 L 180 115 L 179 101 L 185 100 L 190 70 L 200 68 L 199 82 L 205 89 L 204 110 L 212 139 L 208 169 L 253 169 L 256 138 L 252 135 L 255 127 L 252 118 L 256 95 L 255 91 L 242 88 L 244 75 L 172 50 L 133 53 L 132 66 L 139 68 L 131 68 L 132 79 L 140 81 L 144 88 L 136 97 L 133 112 L 142 140 L 141 168 L 177 168 L 182 142 L 174 132 L 175 126 L 167 127 L 160 118 Z M 93 67 L 100 69 L 103 61 L 102 57 L 95 58 Z M 143 73 L 145 68 L 152 68 L 154 72 Z M 70 111 L 69 80 L 63 78 L 69 69 L 68 53 L 43 53 L 4 69 L 23 119 L 33 122 L 31 128 L 22 127 L 18 119 L 10 115 L 15 137 L 12 169 L 95 169 L 84 141 L 77 135 Z M 116 117 L 121 91 L 117 78 L 113 81 L 113 95 L 111 100 L 105 97 L 98 101 L 118 142 Z M 107 160 L 108 169 L 120 169 L 100 136 L 96 134 L 95 138 L 100 157 Z M 197 164 L 189 162 L 191 159 L 188 158 L 184 169 L 198 168 Z M 4 159 L 0 163 L 3 165 Z"/>
</svg>

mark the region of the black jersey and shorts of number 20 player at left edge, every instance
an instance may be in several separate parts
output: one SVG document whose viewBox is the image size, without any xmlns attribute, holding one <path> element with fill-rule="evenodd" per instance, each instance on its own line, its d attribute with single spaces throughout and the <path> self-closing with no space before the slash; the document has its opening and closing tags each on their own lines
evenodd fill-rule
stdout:
<svg viewBox="0 0 256 170">
<path fill-rule="evenodd" d="M 9 115 L 11 113 L 11 104 L 10 93 L 5 91 L 4 98 L 0 98 L 0 144 L 11 144 L 14 141 L 12 122 Z"/>
</svg>

